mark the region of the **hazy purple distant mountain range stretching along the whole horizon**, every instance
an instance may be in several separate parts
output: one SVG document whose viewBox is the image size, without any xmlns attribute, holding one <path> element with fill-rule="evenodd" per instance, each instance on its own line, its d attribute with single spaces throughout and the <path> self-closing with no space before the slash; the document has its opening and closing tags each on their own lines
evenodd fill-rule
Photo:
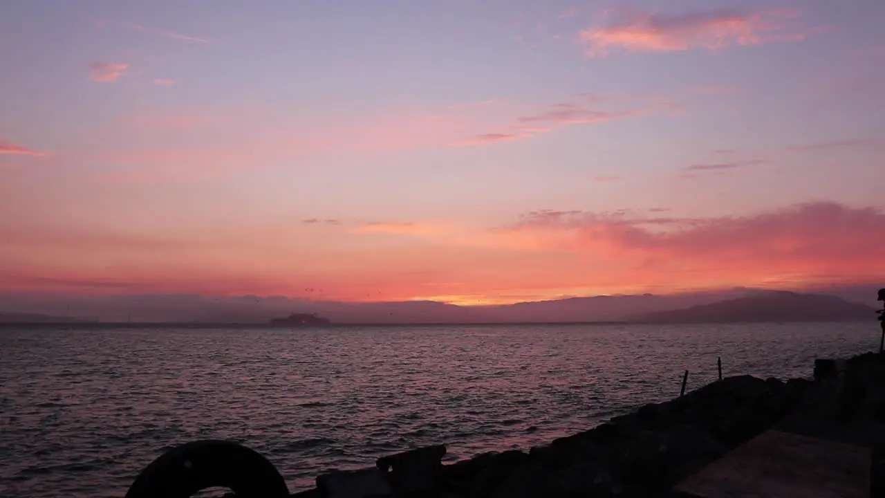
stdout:
<svg viewBox="0 0 885 498">
<path fill-rule="evenodd" d="M 874 320 L 877 287 L 796 293 L 749 288 L 669 295 L 615 295 L 462 307 L 435 301 L 335 302 L 284 297 L 0 295 L 0 322 L 266 324 L 290 314 L 318 314 L 332 323 L 578 323 L 786 322 Z M 859 302 L 858 302 L 859 301 Z M 27 318 L 32 315 L 31 318 Z M 50 315 L 45 317 L 43 315 Z M 78 317 L 72 317 L 76 315 Z"/>
</svg>

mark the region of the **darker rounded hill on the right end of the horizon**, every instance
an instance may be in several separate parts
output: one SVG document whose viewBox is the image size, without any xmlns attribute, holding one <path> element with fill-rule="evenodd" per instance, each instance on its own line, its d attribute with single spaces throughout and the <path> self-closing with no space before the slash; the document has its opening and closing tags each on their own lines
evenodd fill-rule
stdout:
<svg viewBox="0 0 885 498">
<path fill-rule="evenodd" d="M 743 298 L 643 313 L 627 317 L 633 323 L 753 323 L 859 322 L 873 319 L 875 310 L 835 296 L 786 291 L 752 292 Z"/>
</svg>

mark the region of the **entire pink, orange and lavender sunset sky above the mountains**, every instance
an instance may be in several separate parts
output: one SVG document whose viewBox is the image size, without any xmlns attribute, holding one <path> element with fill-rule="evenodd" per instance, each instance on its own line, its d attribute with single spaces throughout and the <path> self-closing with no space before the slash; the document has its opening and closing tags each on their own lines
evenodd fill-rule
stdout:
<svg viewBox="0 0 885 498">
<path fill-rule="evenodd" d="M 0 292 L 885 280 L 880 0 L 0 4 Z"/>
</svg>

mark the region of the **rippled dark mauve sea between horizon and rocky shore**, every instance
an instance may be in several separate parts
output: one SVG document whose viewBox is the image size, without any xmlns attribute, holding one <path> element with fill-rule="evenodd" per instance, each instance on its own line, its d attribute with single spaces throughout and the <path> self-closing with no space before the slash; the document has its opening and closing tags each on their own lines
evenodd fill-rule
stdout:
<svg viewBox="0 0 885 498">
<path fill-rule="evenodd" d="M 528 448 L 725 375 L 808 377 L 858 324 L 0 330 L 0 496 L 122 496 L 189 440 L 238 440 L 295 491 L 445 443 Z"/>
</svg>

